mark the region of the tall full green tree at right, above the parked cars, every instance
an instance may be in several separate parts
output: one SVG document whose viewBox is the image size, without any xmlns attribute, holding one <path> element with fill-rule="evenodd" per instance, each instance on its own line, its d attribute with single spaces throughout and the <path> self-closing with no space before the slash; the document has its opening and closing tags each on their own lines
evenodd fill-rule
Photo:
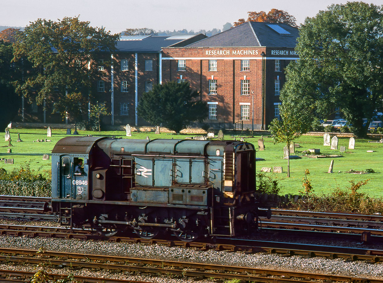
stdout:
<svg viewBox="0 0 383 283">
<path fill-rule="evenodd" d="M 340 108 L 358 137 L 383 109 L 383 6 L 331 5 L 300 28 L 300 59 L 286 69 L 282 104 L 305 105 L 311 121 Z M 363 118 L 367 124 L 363 125 Z"/>
</svg>

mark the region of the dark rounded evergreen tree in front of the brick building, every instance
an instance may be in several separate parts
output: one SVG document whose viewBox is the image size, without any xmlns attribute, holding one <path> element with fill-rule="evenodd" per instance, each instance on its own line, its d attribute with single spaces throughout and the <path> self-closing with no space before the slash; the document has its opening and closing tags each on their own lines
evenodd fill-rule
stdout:
<svg viewBox="0 0 383 283">
<path fill-rule="evenodd" d="M 206 102 L 197 100 L 199 93 L 188 82 L 154 85 L 142 95 L 137 114 L 153 125 L 163 124 L 179 133 L 192 121 L 207 118 Z"/>
</svg>

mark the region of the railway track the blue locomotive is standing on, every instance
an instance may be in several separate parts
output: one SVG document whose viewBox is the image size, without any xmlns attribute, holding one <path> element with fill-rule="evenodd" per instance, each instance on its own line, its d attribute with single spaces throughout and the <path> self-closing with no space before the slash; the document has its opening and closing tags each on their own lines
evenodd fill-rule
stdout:
<svg viewBox="0 0 383 283">
<path fill-rule="evenodd" d="M 358 249 L 350 247 L 335 247 L 324 245 L 308 245 L 286 242 L 270 242 L 258 240 L 244 240 L 219 237 L 215 242 L 210 239 L 200 242 L 182 242 L 168 239 L 142 239 L 134 237 L 104 237 L 90 234 L 82 229 L 61 227 L 36 227 L 21 225 L 0 225 L 0 235 L 29 236 L 29 237 L 56 237 L 81 240 L 110 240 L 126 243 L 160 244 L 178 247 L 195 247 L 199 249 L 215 249 L 228 251 L 246 251 L 249 253 L 264 252 L 286 256 L 303 255 L 308 257 L 322 256 L 331 258 L 345 258 L 349 260 L 368 260 L 369 262 L 383 262 L 383 250 Z"/>
</svg>

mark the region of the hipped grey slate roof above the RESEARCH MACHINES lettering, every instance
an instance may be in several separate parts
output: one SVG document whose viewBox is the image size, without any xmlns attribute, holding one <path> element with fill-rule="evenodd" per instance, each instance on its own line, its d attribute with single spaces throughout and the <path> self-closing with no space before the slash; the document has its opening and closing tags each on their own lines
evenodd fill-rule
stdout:
<svg viewBox="0 0 383 283">
<path fill-rule="evenodd" d="M 268 25 L 278 25 L 290 34 L 280 34 Z M 295 48 L 298 28 L 282 23 L 246 22 L 192 43 L 187 47 L 288 47 Z"/>
</svg>

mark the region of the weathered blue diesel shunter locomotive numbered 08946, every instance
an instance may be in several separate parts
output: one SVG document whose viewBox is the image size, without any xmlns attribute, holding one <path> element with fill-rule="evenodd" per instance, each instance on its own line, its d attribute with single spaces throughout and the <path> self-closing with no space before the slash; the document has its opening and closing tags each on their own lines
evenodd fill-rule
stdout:
<svg viewBox="0 0 383 283">
<path fill-rule="evenodd" d="M 248 142 L 64 137 L 52 150 L 49 208 L 64 226 L 151 239 L 238 236 L 257 228 Z"/>
</svg>

